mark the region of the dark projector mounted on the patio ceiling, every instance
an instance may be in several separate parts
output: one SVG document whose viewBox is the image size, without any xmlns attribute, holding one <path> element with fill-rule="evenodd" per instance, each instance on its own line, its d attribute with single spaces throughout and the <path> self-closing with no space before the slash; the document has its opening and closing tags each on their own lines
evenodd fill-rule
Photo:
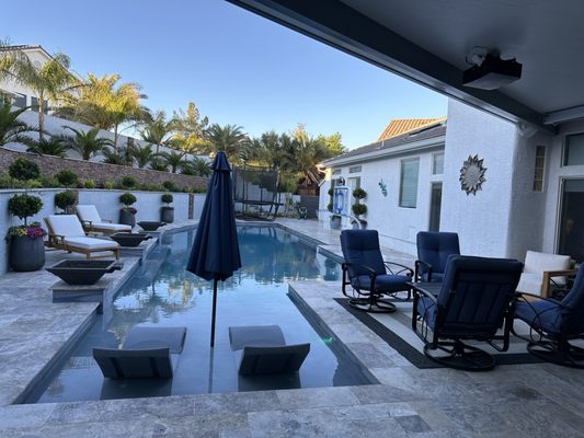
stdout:
<svg viewBox="0 0 584 438">
<path fill-rule="evenodd" d="M 476 65 L 462 74 L 462 85 L 481 90 L 496 90 L 508 85 L 522 77 L 522 65 L 515 59 L 501 59 L 486 54 L 480 65 Z"/>
</svg>

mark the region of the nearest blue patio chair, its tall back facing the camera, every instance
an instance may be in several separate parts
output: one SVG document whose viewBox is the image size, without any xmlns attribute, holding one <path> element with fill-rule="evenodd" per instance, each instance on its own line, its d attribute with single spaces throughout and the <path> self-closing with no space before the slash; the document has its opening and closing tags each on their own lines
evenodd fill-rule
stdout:
<svg viewBox="0 0 584 438">
<path fill-rule="evenodd" d="M 412 328 L 425 344 L 424 354 L 450 368 L 492 369 L 494 357 L 465 341 L 482 341 L 496 350 L 507 350 L 511 308 L 522 270 L 523 263 L 514 260 L 448 257 L 437 297 L 414 288 Z M 497 335 L 500 327 L 502 335 Z"/>
</svg>

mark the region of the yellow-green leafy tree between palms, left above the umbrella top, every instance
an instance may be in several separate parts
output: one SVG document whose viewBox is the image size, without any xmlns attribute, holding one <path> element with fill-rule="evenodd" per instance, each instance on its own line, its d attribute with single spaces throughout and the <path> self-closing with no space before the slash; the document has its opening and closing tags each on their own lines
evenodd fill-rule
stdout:
<svg viewBox="0 0 584 438">
<path fill-rule="evenodd" d="M 188 102 L 186 112 L 179 110 L 172 117 L 172 126 L 175 131 L 174 147 L 181 148 L 185 153 L 207 153 L 208 143 L 205 138 L 205 129 L 209 124 L 208 117 L 201 118 L 201 113 L 193 102 Z"/>
</svg>

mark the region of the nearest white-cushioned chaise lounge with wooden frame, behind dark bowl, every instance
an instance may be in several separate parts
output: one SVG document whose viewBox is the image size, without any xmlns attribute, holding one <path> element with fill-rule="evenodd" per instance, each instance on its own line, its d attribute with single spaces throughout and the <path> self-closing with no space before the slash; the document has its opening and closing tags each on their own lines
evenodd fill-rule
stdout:
<svg viewBox="0 0 584 438">
<path fill-rule="evenodd" d="M 88 238 L 78 217 L 75 215 L 51 215 L 45 218 L 48 229 L 46 245 L 70 253 L 85 254 L 88 258 L 119 258 L 117 242 L 105 239 Z"/>
</svg>

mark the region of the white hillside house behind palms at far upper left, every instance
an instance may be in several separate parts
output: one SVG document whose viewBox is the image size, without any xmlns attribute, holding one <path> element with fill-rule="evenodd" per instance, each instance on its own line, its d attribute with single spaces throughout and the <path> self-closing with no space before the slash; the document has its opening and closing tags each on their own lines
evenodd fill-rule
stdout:
<svg viewBox="0 0 584 438">
<path fill-rule="evenodd" d="M 47 61 L 51 59 L 51 56 L 46 51 L 42 46 L 3 46 L 0 47 L 0 54 L 7 51 L 16 51 L 20 50 L 25 54 L 31 60 L 32 65 L 36 68 L 43 67 Z M 35 107 L 38 107 L 38 101 L 34 95 L 34 92 L 20 84 L 19 82 L 8 79 L 0 81 L 0 93 L 8 94 L 12 97 L 12 104 L 20 108 L 25 106 L 31 106 L 34 111 Z M 45 102 L 44 105 L 45 113 L 48 112 L 48 102 Z"/>
</svg>

